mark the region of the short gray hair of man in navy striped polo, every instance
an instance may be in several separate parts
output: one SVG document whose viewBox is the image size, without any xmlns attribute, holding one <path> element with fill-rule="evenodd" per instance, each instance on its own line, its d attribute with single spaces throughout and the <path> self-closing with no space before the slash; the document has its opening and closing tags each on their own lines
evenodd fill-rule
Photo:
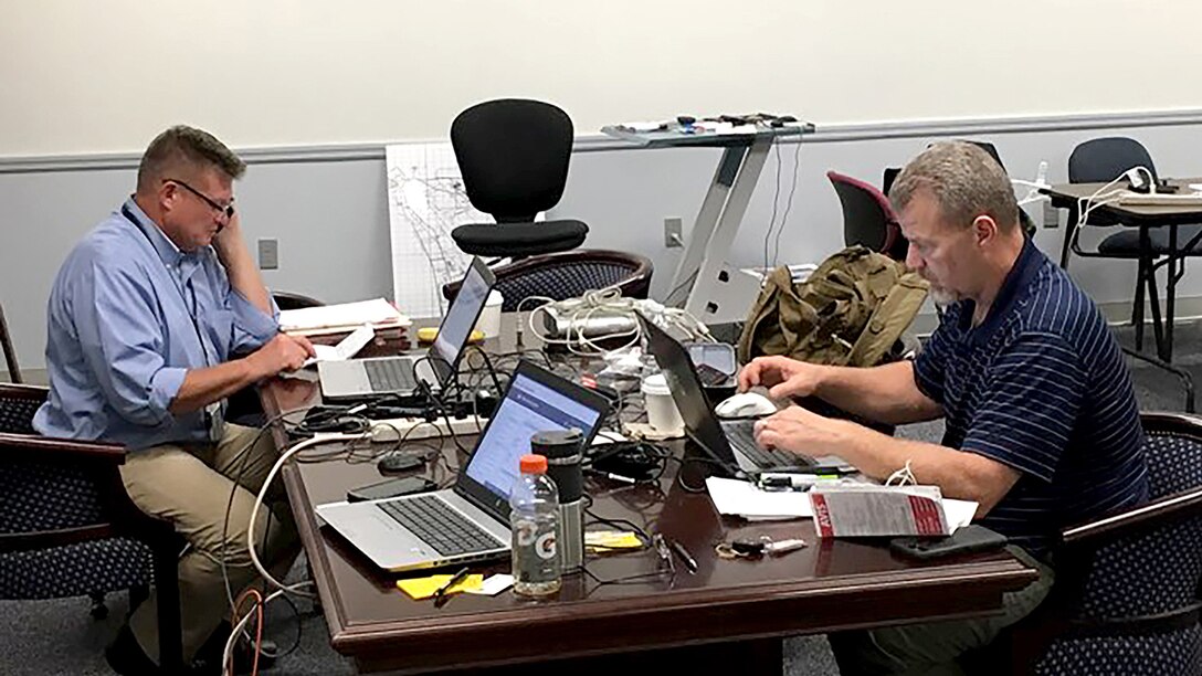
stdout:
<svg viewBox="0 0 1202 676">
<path fill-rule="evenodd" d="M 989 153 L 963 141 L 935 143 L 902 170 L 889 188 L 898 212 L 927 191 L 948 225 L 968 227 L 988 215 L 1004 231 L 1018 227 L 1018 200 L 1010 177 Z"/>
</svg>

